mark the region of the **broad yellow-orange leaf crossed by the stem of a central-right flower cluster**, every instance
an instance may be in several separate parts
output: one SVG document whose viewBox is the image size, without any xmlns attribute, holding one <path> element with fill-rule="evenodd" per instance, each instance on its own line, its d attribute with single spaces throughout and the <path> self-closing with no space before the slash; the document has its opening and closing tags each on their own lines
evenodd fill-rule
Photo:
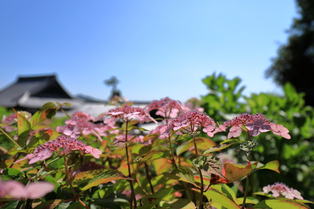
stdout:
<svg viewBox="0 0 314 209">
<path fill-rule="evenodd" d="M 196 145 L 198 146 L 198 149 L 202 149 L 202 150 L 206 150 L 206 149 L 216 145 L 215 142 L 213 142 L 212 140 L 205 138 L 205 137 L 197 137 L 197 138 L 195 138 L 195 141 L 196 141 Z M 177 147 L 176 154 L 177 154 L 177 156 L 179 156 L 183 152 L 185 152 L 185 151 L 187 151 L 193 147 L 194 147 L 193 139 L 190 139 L 188 142 L 181 144 Z"/>
</svg>

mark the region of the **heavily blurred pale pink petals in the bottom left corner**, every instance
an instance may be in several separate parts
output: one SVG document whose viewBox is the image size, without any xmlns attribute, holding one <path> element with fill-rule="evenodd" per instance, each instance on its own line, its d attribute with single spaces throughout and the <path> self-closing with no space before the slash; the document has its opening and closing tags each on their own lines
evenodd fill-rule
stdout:
<svg viewBox="0 0 314 209">
<path fill-rule="evenodd" d="M 6 198 L 6 195 L 16 199 L 37 199 L 45 196 L 47 193 L 53 191 L 55 186 L 46 181 L 39 181 L 38 183 L 31 182 L 28 186 L 24 186 L 19 181 L 0 179 L 0 197 Z"/>
</svg>

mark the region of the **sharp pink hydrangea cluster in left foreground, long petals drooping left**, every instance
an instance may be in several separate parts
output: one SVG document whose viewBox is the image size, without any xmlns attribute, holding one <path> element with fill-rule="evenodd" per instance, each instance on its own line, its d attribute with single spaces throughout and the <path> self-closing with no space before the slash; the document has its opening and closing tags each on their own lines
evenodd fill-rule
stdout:
<svg viewBox="0 0 314 209">
<path fill-rule="evenodd" d="M 62 151 L 59 149 L 62 148 Z M 70 150 L 82 150 L 86 154 L 92 154 L 95 158 L 100 158 L 102 152 L 99 149 L 93 148 L 84 144 L 81 140 L 72 138 L 66 135 L 58 136 L 56 139 L 46 142 L 45 144 L 39 145 L 34 150 L 33 154 L 27 154 L 23 159 L 19 159 L 14 163 L 17 163 L 24 159 L 29 159 L 28 164 L 33 164 L 37 161 L 47 159 L 51 157 L 53 152 L 57 154 L 64 155 L 67 154 Z"/>
</svg>

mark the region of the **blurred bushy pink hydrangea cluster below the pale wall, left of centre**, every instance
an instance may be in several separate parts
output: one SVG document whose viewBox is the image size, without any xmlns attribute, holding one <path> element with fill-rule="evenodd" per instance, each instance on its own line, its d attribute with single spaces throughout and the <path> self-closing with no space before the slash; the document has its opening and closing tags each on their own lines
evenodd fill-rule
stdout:
<svg viewBox="0 0 314 209">
<path fill-rule="evenodd" d="M 80 134 L 93 134 L 102 141 L 100 136 L 106 136 L 104 132 L 112 129 L 113 126 L 104 126 L 103 124 L 94 124 L 90 122 L 94 119 L 93 116 L 90 116 L 85 112 L 74 112 L 73 116 L 65 121 L 67 125 L 57 126 L 56 130 L 59 133 L 63 133 L 73 138 L 78 138 Z"/>
</svg>

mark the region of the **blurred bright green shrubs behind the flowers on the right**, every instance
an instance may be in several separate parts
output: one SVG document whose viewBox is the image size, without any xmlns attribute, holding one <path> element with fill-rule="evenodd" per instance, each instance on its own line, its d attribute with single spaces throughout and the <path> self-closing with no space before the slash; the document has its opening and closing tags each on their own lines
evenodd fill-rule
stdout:
<svg viewBox="0 0 314 209">
<path fill-rule="evenodd" d="M 264 164 L 278 160 L 280 174 L 266 169 L 254 172 L 249 193 L 282 182 L 300 191 L 304 199 L 314 201 L 313 107 L 304 106 L 304 93 L 297 93 L 290 83 L 284 86 L 284 96 L 260 93 L 245 97 L 241 94 L 244 87 L 239 88 L 240 82 L 238 77 L 229 80 L 221 74 L 203 79 L 209 93 L 202 97 L 202 107 L 209 117 L 222 124 L 243 112 L 261 112 L 271 122 L 288 128 L 291 135 L 291 139 L 285 139 L 269 131 L 252 138 L 259 144 L 252 152 L 253 160 Z M 215 134 L 213 139 L 217 142 L 225 135 Z M 246 136 L 242 133 L 241 137 Z"/>
</svg>

